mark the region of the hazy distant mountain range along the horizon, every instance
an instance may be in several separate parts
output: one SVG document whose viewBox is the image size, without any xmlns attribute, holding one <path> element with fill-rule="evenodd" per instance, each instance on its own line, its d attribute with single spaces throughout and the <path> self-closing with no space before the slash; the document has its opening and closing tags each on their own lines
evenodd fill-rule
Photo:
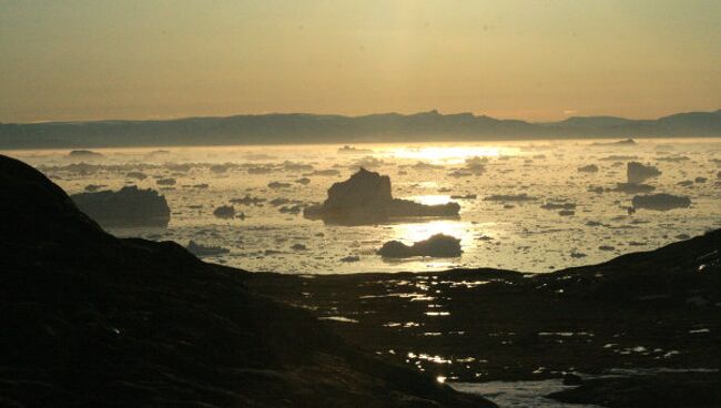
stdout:
<svg viewBox="0 0 721 408">
<path fill-rule="evenodd" d="M 343 116 L 272 113 L 164 121 L 0 123 L 0 149 L 721 136 L 721 110 L 656 120 L 573 116 L 560 122 L 471 113 Z"/>
</svg>

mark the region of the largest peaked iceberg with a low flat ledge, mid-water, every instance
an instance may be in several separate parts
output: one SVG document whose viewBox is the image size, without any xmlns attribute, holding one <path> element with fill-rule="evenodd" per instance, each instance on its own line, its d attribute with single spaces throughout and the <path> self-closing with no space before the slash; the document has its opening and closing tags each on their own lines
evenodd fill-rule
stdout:
<svg viewBox="0 0 721 408">
<path fill-rule="evenodd" d="M 455 217 L 459 211 L 457 203 L 424 205 L 394 198 L 387 175 L 360 169 L 345 182 L 333 184 L 327 200 L 305 208 L 303 215 L 328 223 L 365 224 L 398 217 Z"/>
</svg>

